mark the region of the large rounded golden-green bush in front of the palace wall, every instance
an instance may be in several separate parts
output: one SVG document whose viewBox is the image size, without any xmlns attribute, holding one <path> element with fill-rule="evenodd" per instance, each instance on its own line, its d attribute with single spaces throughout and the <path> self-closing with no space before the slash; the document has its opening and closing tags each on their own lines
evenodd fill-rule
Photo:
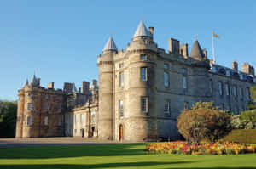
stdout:
<svg viewBox="0 0 256 169">
<path fill-rule="evenodd" d="M 231 115 L 219 110 L 212 102 L 197 102 L 190 110 L 183 110 L 177 118 L 178 131 L 189 142 L 202 139 L 216 141 L 231 131 Z"/>
</svg>

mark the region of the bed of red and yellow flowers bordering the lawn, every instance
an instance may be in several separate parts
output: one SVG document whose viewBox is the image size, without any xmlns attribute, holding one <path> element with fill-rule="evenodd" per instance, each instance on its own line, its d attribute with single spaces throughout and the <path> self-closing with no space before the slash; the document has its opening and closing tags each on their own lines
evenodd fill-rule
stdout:
<svg viewBox="0 0 256 169">
<path fill-rule="evenodd" d="M 255 144 L 207 143 L 189 145 L 187 142 L 154 143 L 146 146 L 148 152 L 184 155 L 238 155 L 255 153 Z"/>
</svg>

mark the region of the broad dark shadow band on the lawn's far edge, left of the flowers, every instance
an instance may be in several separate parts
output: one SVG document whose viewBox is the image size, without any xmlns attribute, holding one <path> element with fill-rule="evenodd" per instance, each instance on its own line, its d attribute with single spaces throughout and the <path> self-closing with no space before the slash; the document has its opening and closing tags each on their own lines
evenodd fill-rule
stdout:
<svg viewBox="0 0 256 169">
<path fill-rule="evenodd" d="M 144 149 L 144 144 L 89 144 L 15 147 L 1 148 L 0 159 L 46 159 L 82 156 L 147 155 L 148 152 Z"/>
</svg>

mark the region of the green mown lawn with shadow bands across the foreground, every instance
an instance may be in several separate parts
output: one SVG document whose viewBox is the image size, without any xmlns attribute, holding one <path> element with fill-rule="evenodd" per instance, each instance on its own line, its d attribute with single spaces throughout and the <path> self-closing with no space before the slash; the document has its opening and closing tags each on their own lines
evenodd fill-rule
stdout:
<svg viewBox="0 0 256 169">
<path fill-rule="evenodd" d="M 256 154 L 148 154 L 145 144 L 0 148 L 0 168 L 256 168 Z"/>
</svg>

